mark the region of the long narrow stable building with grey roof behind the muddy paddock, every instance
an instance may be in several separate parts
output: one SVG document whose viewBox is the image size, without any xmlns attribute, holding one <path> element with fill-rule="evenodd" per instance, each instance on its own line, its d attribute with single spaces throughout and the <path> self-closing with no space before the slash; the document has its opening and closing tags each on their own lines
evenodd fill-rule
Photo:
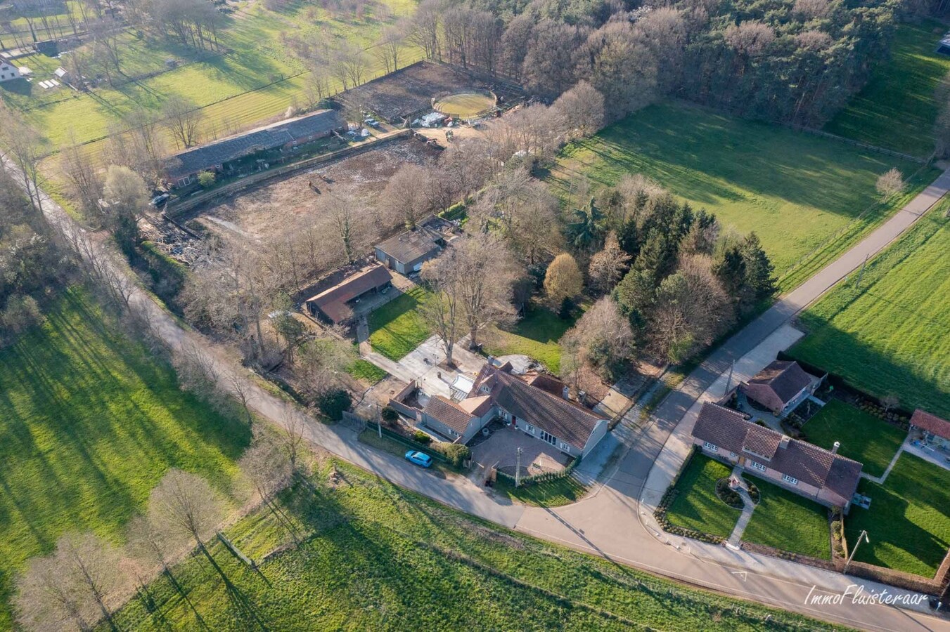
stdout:
<svg viewBox="0 0 950 632">
<path fill-rule="evenodd" d="M 334 132 L 346 131 L 346 128 L 347 122 L 335 110 L 318 110 L 185 150 L 166 161 L 165 174 L 173 186 L 188 186 L 202 171 L 226 172 L 241 158 L 275 149 L 290 149 L 326 138 Z"/>
</svg>

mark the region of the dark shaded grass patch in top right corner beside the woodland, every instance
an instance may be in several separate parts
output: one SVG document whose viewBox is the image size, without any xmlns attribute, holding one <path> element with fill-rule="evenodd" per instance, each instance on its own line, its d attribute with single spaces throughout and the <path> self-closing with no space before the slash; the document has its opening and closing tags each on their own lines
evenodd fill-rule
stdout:
<svg viewBox="0 0 950 632">
<path fill-rule="evenodd" d="M 826 131 L 911 156 L 930 156 L 940 111 L 934 89 L 950 71 L 950 57 L 935 52 L 946 29 L 936 20 L 899 25 L 891 59 L 875 68 Z"/>
</svg>

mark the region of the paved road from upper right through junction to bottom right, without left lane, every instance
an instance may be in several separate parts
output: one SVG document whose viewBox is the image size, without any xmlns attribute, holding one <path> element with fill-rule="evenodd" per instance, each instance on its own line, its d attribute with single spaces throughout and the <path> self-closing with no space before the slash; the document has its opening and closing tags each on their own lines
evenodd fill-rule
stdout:
<svg viewBox="0 0 950 632">
<path fill-rule="evenodd" d="M 628 452 L 621 457 L 616 470 L 597 493 L 580 503 L 557 510 L 528 509 L 516 529 L 700 586 L 709 586 L 823 619 L 873 630 L 950 630 L 950 623 L 946 620 L 893 607 L 855 605 L 845 601 L 821 609 L 811 608 L 805 604 L 811 586 L 843 588 L 852 581 L 867 586 L 868 590 L 882 589 L 883 586 L 780 561 L 769 562 L 768 569 L 761 568 L 756 573 L 755 565 L 760 562 L 753 556 L 742 552 L 731 553 L 722 547 L 709 548 L 650 530 L 646 524 L 651 521 L 640 515 L 646 511 L 638 502 L 644 493 L 663 493 L 665 484 L 662 486 L 664 489 L 646 487 L 648 479 L 663 478 L 656 476 L 656 472 L 651 476 L 655 467 L 665 467 L 667 464 L 666 459 L 657 460 L 658 457 L 677 424 L 687 417 L 694 402 L 714 381 L 720 378 L 724 380 L 723 375 L 731 363 L 756 351 L 768 353 L 770 358 L 774 358 L 774 349 L 769 348 L 769 336 L 788 324 L 796 313 L 828 288 L 856 270 L 865 257 L 873 256 L 900 236 L 948 191 L 950 170 L 861 243 L 782 297 L 713 352 L 678 389 L 661 402 L 642 433 L 628 442 Z M 697 557 L 700 550 L 702 559 Z M 714 561 L 711 562 L 710 558 Z M 750 571 L 750 567 L 753 570 Z M 746 574 L 742 574 L 743 571 Z"/>
</svg>

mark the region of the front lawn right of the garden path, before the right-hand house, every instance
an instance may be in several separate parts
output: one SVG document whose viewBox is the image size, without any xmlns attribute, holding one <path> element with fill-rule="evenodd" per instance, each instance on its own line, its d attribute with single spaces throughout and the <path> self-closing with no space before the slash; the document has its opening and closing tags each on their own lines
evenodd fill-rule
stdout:
<svg viewBox="0 0 950 632">
<path fill-rule="evenodd" d="M 822 560 L 831 559 L 825 507 L 756 476 L 747 475 L 746 480 L 753 482 L 762 496 L 742 534 L 743 540 Z"/>
</svg>

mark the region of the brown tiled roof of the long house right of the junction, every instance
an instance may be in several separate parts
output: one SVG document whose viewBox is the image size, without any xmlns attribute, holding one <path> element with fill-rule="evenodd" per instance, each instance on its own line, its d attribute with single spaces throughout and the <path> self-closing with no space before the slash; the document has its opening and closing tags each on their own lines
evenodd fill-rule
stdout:
<svg viewBox="0 0 950 632">
<path fill-rule="evenodd" d="M 861 463 L 806 441 L 784 437 L 714 403 L 703 404 L 693 426 L 693 437 L 737 455 L 754 445 L 755 452 L 764 457 L 763 465 L 832 493 L 839 506 L 844 506 L 858 488 Z"/>
</svg>

